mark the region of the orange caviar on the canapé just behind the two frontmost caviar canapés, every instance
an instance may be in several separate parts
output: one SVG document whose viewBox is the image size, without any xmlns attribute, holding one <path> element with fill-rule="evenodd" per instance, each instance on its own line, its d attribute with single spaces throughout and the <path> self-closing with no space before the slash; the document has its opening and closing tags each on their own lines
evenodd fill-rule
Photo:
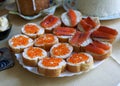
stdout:
<svg viewBox="0 0 120 86">
<path fill-rule="evenodd" d="M 66 44 L 60 44 L 57 47 L 53 48 L 53 54 L 60 56 L 60 55 L 65 55 L 70 52 L 69 48 L 66 46 Z"/>
</svg>

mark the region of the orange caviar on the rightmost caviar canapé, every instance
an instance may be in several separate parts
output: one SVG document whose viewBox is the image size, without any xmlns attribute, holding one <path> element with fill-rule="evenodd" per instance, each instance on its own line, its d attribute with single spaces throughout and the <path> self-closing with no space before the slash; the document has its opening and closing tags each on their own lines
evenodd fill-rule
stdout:
<svg viewBox="0 0 120 86">
<path fill-rule="evenodd" d="M 75 53 L 68 59 L 68 62 L 79 63 L 79 62 L 86 61 L 86 60 L 88 60 L 87 55 L 85 55 L 83 53 L 79 53 L 79 54 Z"/>
</svg>

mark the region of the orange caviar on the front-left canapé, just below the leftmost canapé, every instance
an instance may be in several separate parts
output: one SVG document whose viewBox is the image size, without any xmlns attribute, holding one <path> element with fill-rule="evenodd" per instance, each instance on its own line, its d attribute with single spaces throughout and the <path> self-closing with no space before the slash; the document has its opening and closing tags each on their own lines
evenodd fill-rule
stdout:
<svg viewBox="0 0 120 86">
<path fill-rule="evenodd" d="M 36 47 L 30 47 L 28 50 L 27 50 L 27 55 L 30 57 L 30 58 L 34 58 L 36 56 L 42 56 L 43 53 L 42 53 L 42 50 L 40 48 L 36 48 Z"/>
</svg>

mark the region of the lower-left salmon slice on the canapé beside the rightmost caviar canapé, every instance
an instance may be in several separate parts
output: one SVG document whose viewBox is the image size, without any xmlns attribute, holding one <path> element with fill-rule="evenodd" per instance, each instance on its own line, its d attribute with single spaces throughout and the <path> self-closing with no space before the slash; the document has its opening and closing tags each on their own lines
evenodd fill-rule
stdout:
<svg viewBox="0 0 120 86">
<path fill-rule="evenodd" d="M 95 53 L 95 54 L 105 54 L 105 50 L 102 48 L 99 48 L 97 46 L 95 46 L 94 44 L 90 43 L 89 45 L 87 45 L 85 47 L 86 51 L 91 52 L 91 53 Z"/>
</svg>

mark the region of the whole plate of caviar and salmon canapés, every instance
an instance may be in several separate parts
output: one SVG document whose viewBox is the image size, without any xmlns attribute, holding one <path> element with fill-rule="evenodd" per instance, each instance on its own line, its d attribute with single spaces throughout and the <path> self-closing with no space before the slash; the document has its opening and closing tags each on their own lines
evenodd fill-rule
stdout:
<svg viewBox="0 0 120 86">
<path fill-rule="evenodd" d="M 99 18 L 82 18 L 70 9 L 61 18 L 49 14 L 39 25 L 27 23 L 8 40 L 23 68 L 41 76 L 66 77 L 95 69 L 109 58 L 118 32 Z"/>
</svg>

